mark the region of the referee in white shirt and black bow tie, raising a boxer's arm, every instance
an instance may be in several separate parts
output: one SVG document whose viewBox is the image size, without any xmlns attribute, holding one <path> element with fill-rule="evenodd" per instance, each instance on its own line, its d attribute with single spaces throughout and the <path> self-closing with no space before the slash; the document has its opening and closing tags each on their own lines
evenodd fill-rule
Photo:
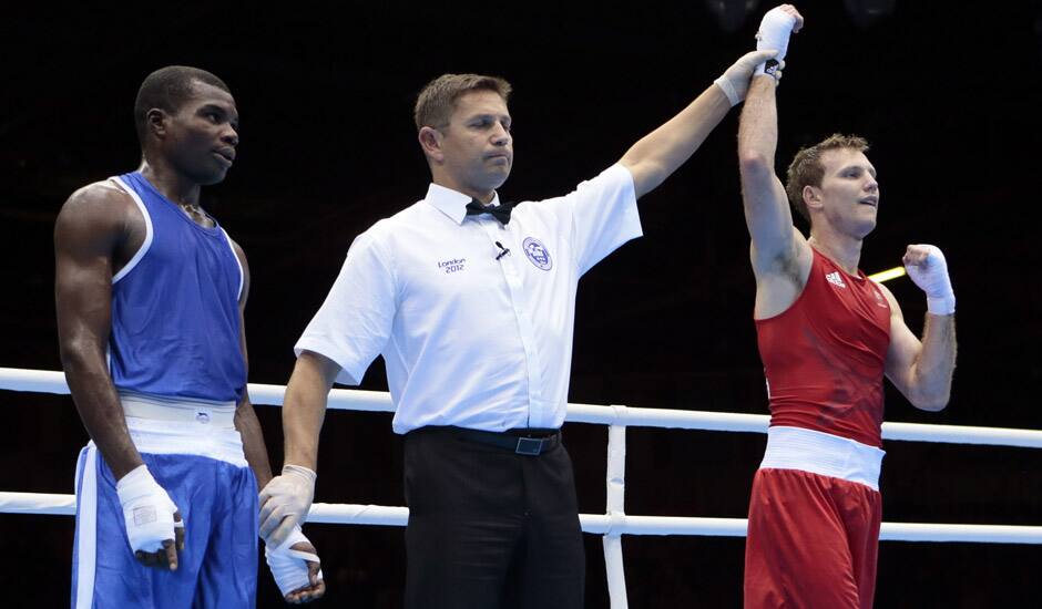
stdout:
<svg viewBox="0 0 1042 609">
<path fill-rule="evenodd" d="M 296 344 L 283 474 L 260 495 L 280 540 L 314 496 L 334 382 L 382 354 L 405 434 L 408 608 L 580 608 L 585 559 L 561 442 L 580 277 L 642 234 L 636 199 L 698 148 L 773 52 L 739 59 L 614 165 L 546 200 L 504 203 L 510 84 L 445 74 L 416 103 L 426 196 L 351 245 Z"/>
</svg>

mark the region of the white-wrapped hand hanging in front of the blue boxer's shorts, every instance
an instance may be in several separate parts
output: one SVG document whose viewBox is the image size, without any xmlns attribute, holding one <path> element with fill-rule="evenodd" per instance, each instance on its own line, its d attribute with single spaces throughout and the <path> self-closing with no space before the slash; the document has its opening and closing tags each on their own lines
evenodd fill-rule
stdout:
<svg viewBox="0 0 1042 609">
<path fill-rule="evenodd" d="M 174 527 L 184 526 L 184 523 L 174 523 L 177 506 L 155 482 L 147 466 L 139 465 L 120 478 L 115 492 L 132 551 L 159 551 L 163 549 L 163 541 L 174 539 Z"/>
</svg>

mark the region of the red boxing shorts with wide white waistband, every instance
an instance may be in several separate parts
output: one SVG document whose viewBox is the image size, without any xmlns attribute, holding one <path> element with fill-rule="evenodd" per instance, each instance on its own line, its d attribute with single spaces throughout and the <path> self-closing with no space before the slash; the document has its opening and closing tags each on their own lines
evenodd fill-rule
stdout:
<svg viewBox="0 0 1042 609">
<path fill-rule="evenodd" d="M 820 432 L 770 429 L 749 500 L 746 609 L 871 608 L 882 454 Z"/>
</svg>

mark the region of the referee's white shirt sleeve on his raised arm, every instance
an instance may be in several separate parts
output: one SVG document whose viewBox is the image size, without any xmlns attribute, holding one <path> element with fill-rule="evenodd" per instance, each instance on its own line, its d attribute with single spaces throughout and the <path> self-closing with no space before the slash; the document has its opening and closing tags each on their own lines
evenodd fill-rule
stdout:
<svg viewBox="0 0 1042 609">
<path fill-rule="evenodd" d="M 571 207 L 572 242 L 580 273 L 585 273 L 622 244 L 644 234 L 633 176 L 622 165 L 604 169 L 564 198 Z"/>
</svg>

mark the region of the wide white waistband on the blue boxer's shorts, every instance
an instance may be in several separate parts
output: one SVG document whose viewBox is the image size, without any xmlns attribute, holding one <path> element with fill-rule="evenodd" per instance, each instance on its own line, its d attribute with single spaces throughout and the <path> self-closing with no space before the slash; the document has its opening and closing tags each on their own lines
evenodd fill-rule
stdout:
<svg viewBox="0 0 1042 609">
<path fill-rule="evenodd" d="M 196 455 L 245 467 L 243 438 L 235 429 L 235 404 L 171 400 L 121 392 L 123 414 L 139 452 Z"/>
</svg>

